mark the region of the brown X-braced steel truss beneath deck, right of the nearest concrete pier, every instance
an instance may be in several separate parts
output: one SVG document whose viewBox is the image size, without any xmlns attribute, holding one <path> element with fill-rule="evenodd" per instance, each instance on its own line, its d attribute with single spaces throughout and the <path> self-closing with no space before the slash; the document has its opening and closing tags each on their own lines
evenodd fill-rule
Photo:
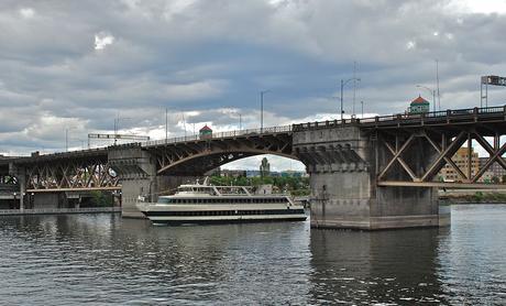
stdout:
<svg viewBox="0 0 506 306">
<path fill-rule="evenodd" d="M 503 157 L 506 153 L 506 144 L 501 144 L 501 136 L 506 134 L 505 128 L 503 124 L 469 124 L 458 128 L 376 130 L 374 132 L 374 138 L 377 139 L 376 154 L 383 155 L 383 159 L 382 156 L 376 159 L 377 185 L 505 188 L 505 186 L 479 183 L 494 163 L 506 170 L 506 161 Z M 479 165 L 477 172 L 473 171 L 471 154 L 476 152 L 473 147 L 474 143 L 480 144 L 490 154 L 486 161 Z M 468 147 L 468 160 L 465 165 L 458 165 L 452 157 L 463 146 Z M 447 165 L 457 173 L 459 179 L 455 182 L 437 179 L 438 173 Z"/>
</svg>

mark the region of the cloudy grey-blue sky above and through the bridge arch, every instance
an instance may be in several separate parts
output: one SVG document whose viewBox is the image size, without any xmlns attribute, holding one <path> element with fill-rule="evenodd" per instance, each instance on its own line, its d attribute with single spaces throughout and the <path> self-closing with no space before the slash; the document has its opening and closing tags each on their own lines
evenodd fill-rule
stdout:
<svg viewBox="0 0 506 306">
<path fill-rule="evenodd" d="M 480 103 L 506 75 L 506 0 L 46 0 L 0 2 L 0 153 L 87 145 L 88 133 L 169 136 Z M 490 91 L 503 105 L 506 90 Z M 186 123 L 185 123 L 186 122 Z M 105 143 L 91 143 L 103 145 Z M 260 157 L 230 167 L 253 167 Z M 302 168 L 273 159 L 274 168 Z"/>
</svg>

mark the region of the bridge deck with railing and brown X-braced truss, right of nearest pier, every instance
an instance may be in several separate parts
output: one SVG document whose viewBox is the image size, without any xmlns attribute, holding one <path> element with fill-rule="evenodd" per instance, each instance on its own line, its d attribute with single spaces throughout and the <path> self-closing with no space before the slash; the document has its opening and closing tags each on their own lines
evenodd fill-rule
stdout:
<svg viewBox="0 0 506 306">
<path fill-rule="evenodd" d="M 506 111 L 501 108 L 460 110 L 447 112 L 439 118 L 402 117 L 397 123 L 372 127 L 372 138 L 377 141 L 376 159 L 378 186 L 419 186 L 497 188 L 494 184 L 480 184 L 480 179 L 494 163 L 506 170 Z M 395 120 L 394 120 L 395 121 Z M 394 123 L 394 124 L 392 124 Z M 472 153 L 476 144 L 487 152 L 488 157 L 473 171 Z M 474 147 L 473 147 L 474 146 Z M 465 165 L 452 160 L 457 151 L 466 149 Z M 385 153 L 381 153 L 382 152 Z M 447 166 L 459 179 L 441 182 L 438 173 Z"/>
</svg>

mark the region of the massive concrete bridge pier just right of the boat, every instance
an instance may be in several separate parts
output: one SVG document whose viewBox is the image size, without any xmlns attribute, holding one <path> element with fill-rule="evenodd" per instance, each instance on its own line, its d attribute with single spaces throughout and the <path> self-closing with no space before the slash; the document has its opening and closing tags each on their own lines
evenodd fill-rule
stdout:
<svg viewBox="0 0 506 306">
<path fill-rule="evenodd" d="M 394 229 L 439 226 L 437 188 L 376 186 L 377 141 L 359 127 L 323 127 L 294 133 L 294 153 L 306 164 L 311 185 L 311 227 Z M 411 149 L 422 168 L 427 146 Z M 424 154 L 425 153 L 425 154 Z M 397 172 L 402 174 L 402 171 Z"/>
</svg>

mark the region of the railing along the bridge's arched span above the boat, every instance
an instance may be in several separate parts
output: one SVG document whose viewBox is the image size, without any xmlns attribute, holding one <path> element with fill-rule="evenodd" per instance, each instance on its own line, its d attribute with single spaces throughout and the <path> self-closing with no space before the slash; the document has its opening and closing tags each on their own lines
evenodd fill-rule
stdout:
<svg viewBox="0 0 506 306">
<path fill-rule="evenodd" d="M 224 138 L 234 138 L 234 136 L 243 136 L 243 135 L 262 135 L 262 134 L 286 133 L 286 132 L 292 132 L 292 125 L 268 127 L 268 128 L 263 128 L 263 129 L 234 130 L 234 131 L 212 133 L 209 135 L 191 134 L 187 136 L 146 141 L 146 142 L 143 142 L 142 145 L 153 146 L 153 145 L 163 145 L 163 144 L 176 143 L 176 142 L 187 142 L 187 141 L 197 141 L 197 140 L 209 140 L 209 139 L 224 139 Z"/>
</svg>

